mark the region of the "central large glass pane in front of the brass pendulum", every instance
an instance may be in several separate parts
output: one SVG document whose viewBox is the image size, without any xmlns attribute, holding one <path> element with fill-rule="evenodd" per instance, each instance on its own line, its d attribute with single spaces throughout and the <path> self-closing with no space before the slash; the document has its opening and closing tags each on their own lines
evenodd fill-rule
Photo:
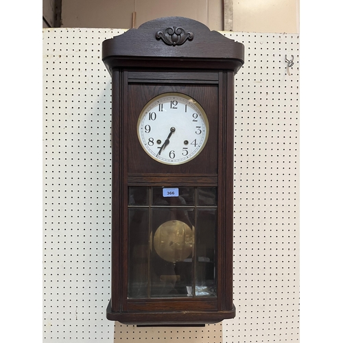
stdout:
<svg viewBox="0 0 343 343">
<path fill-rule="evenodd" d="M 152 209 L 152 297 L 192 296 L 194 209 Z"/>
</svg>

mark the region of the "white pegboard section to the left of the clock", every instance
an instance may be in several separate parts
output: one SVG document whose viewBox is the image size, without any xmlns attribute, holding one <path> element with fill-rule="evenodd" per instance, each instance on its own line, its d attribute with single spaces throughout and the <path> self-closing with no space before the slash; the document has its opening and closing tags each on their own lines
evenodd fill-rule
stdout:
<svg viewBox="0 0 343 343">
<path fill-rule="evenodd" d="M 44 30 L 46 342 L 113 340 L 113 323 L 104 318 L 110 294 L 111 202 L 104 37 L 106 30 Z"/>
</svg>

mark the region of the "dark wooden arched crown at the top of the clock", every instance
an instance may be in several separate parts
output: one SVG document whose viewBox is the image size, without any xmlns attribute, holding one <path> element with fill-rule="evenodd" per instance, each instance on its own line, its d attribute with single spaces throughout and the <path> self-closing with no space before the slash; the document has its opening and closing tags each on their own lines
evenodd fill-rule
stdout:
<svg viewBox="0 0 343 343">
<path fill-rule="evenodd" d="M 189 44 L 167 45 L 156 39 L 165 27 L 182 27 L 192 33 Z M 156 54 L 156 52 L 158 53 Z M 120 36 L 104 40 L 102 60 L 108 71 L 114 67 L 239 70 L 244 63 L 244 45 L 210 31 L 192 19 L 171 16 L 155 19 L 129 29 Z"/>
</svg>

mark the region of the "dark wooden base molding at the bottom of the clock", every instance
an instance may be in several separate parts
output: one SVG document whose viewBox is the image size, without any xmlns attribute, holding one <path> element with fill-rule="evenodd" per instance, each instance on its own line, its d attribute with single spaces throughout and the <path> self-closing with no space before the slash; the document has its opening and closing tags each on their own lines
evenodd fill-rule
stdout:
<svg viewBox="0 0 343 343">
<path fill-rule="evenodd" d="M 111 302 L 106 309 L 108 320 L 117 320 L 121 324 L 140 327 L 202 327 L 216 324 L 224 319 L 235 318 L 235 305 L 230 311 L 161 311 L 161 312 L 113 312 Z"/>
</svg>

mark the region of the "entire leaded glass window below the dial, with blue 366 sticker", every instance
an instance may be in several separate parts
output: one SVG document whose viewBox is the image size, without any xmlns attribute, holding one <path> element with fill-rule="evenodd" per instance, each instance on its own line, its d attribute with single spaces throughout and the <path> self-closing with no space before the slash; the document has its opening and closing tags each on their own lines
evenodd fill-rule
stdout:
<svg viewBox="0 0 343 343">
<path fill-rule="evenodd" d="M 217 188 L 128 191 L 128 299 L 215 300 Z"/>
</svg>

